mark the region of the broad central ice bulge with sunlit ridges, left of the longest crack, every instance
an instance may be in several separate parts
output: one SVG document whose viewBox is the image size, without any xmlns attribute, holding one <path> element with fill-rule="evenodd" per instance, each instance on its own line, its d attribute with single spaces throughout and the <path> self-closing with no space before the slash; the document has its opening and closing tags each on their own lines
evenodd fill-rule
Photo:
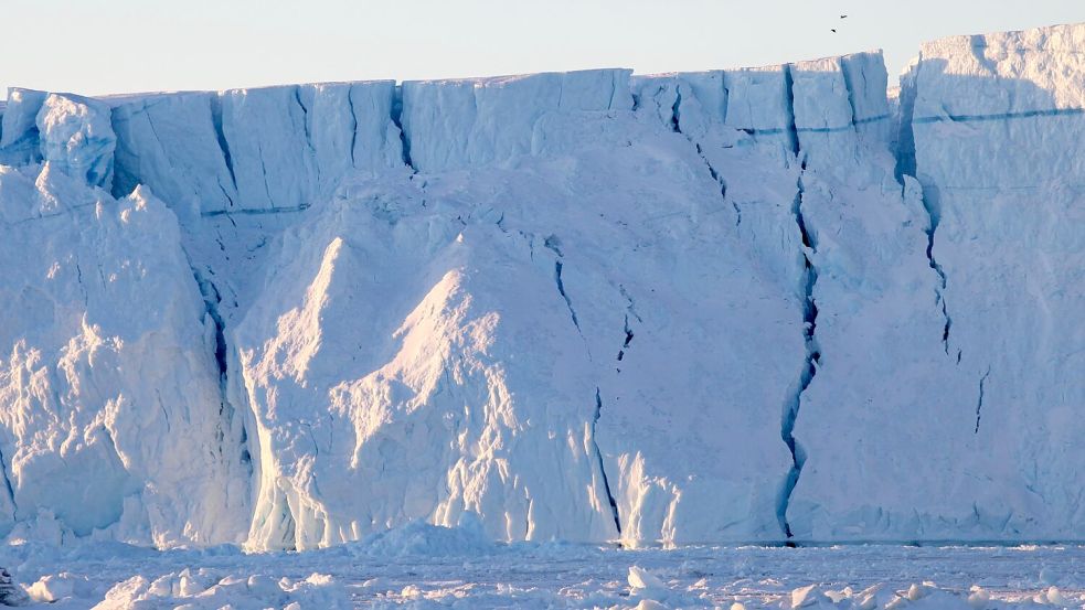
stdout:
<svg viewBox="0 0 1085 610">
<path fill-rule="evenodd" d="M 489 107 L 498 116 L 533 99 L 504 95 Z M 417 111 L 411 99 L 404 116 Z M 266 430 L 254 543 L 316 546 L 416 517 L 455 524 L 465 511 L 513 541 L 781 536 L 783 478 L 762 473 L 790 459 L 779 414 L 796 358 L 693 329 L 776 327 L 774 345 L 800 350 L 797 298 L 758 271 L 733 207 L 669 124 L 556 108 L 533 133 L 576 152 L 523 149 L 407 189 L 360 185 L 327 220 L 288 233 L 283 256 L 311 244 L 310 263 L 276 272 L 268 291 L 294 297 L 260 303 L 238 330 Z M 667 279 L 694 269 L 713 281 Z M 464 327 L 470 342 L 446 336 Z M 742 387 L 746 357 L 764 361 L 765 387 Z M 337 415 L 312 420 L 315 402 Z M 676 420 L 669 404 L 698 415 Z"/>
</svg>

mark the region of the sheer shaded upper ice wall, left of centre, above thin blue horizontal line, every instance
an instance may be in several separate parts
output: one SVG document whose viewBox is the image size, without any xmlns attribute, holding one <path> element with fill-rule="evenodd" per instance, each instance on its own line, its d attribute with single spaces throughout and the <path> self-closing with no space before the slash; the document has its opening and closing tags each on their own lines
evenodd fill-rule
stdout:
<svg viewBox="0 0 1085 610">
<path fill-rule="evenodd" d="M 297 85 L 121 100 L 117 191 L 148 184 L 192 215 L 298 211 L 349 171 L 401 162 L 394 83 Z"/>
</svg>

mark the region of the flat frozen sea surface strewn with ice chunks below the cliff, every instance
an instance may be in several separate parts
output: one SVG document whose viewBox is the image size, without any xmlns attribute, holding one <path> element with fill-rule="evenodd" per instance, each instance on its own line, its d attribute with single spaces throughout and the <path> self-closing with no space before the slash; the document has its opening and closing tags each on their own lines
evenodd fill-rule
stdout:
<svg viewBox="0 0 1085 610">
<path fill-rule="evenodd" d="M 413 524 L 307 553 L 107 544 L 7 554 L 15 578 L 53 608 L 1085 607 L 1083 546 L 629 550 L 492 544 Z"/>
</svg>

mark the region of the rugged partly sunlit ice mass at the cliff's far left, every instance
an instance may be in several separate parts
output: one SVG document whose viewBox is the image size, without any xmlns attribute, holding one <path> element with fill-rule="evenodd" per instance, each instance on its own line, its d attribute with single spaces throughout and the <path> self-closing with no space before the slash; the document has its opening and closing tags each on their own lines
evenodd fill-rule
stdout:
<svg viewBox="0 0 1085 610">
<path fill-rule="evenodd" d="M 0 527 L 241 541 L 244 448 L 177 222 L 68 169 L 0 171 Z"/>
</svg>

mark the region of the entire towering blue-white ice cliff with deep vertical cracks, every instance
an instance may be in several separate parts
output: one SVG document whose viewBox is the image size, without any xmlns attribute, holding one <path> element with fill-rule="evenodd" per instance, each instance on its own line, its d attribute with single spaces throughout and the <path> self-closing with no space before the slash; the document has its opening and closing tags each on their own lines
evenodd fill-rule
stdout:
<svg viewBox="0 0 1085 610">
<path fill-rule="evenodd" d="M 0 533 L 1085 538 L 1085 25 L 0 122 Z"/>
</svg>

